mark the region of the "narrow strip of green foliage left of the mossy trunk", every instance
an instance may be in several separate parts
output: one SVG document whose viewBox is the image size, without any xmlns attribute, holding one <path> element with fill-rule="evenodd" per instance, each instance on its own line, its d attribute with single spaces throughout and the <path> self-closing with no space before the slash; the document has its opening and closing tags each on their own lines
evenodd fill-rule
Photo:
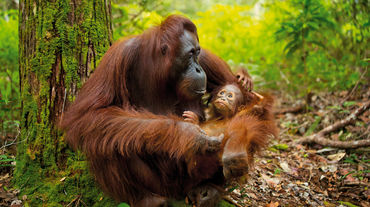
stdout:
<svg viewBox="0 0 370 207">
<path fill-rule="evenodd" d="M 16 10 L 0 12 L 0 129 L 4 134 L 19 125 L 17 15 Z"/>
</svg>

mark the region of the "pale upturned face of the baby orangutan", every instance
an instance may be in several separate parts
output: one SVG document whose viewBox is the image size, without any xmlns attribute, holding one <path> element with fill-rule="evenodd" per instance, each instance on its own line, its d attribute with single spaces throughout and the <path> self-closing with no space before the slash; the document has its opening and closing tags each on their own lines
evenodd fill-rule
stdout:
<svg viewBox="0 0 370 207">
<path fill-rule="evenodd" d="M 242 103 L 243 94 L 235 85 L 226 85 L 213 98 L 215 110 L 224 118 L 233 116 Z"/>
</svg>

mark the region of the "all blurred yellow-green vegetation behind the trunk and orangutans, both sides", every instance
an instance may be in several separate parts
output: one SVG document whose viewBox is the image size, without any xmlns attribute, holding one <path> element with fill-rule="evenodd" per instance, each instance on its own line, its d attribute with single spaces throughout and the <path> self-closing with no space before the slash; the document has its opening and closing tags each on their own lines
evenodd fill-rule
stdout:
<svg viewBox="0 0 370 207">
<path fill-rule="evenodd" d="M 367 87 L 368 0 L 113 0 L 114 38 L 169 14 L 198 27 L 202 47 L 246 67 L 257 90 L 292 96 Z M 19 124 L 18 0 L 0 2 L 0 127 Z"/>
</svg>

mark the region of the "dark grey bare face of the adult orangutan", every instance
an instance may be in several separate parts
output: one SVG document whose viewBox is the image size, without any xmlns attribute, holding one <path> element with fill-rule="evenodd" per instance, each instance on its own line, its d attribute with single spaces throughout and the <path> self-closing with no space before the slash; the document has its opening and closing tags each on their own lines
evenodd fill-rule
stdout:
<svg viewBox="0 0 370 207">
<path fill-rule="evenodd" d="M 177 91 L 185 99 L 192 100 L 206 92 L 207 78 L 198 62 L 200 46 L 197 37 L 185 30 L 180 42 L 180 52 L 174 61 L 175 67 L 181 71 Z"/>
</svg>

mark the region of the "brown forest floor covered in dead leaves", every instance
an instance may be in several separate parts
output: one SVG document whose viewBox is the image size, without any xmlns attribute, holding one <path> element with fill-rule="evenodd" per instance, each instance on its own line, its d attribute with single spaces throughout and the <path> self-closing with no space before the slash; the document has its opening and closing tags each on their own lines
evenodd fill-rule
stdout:
<svg viewBox="0 0 370 207">
<path fill-rule="evenodd" d="M 331 148 L 295 141 L 344 120 L 370 99 L 365 87 L 356 94 L 347 91 L 314 94 L 309 107 L 293 97 L 276 94 L 280 136 L 256 159 L 248 179 L 232 182 L 229 198 L 239 206 L 370 206 L 370 148 Z M 300 107 L 305 106 L 305 107 Z M 370 111 L 325 139 L 349 141 L 370 139 Z M 18 207 L 19 190 L 11 187 L 16 133 L 1 137 L 0 206 Z M 9 144 L 10 143 L 10 144 Z M 12 144 L 13 143 L 13 144 Z"/>
</svg>

